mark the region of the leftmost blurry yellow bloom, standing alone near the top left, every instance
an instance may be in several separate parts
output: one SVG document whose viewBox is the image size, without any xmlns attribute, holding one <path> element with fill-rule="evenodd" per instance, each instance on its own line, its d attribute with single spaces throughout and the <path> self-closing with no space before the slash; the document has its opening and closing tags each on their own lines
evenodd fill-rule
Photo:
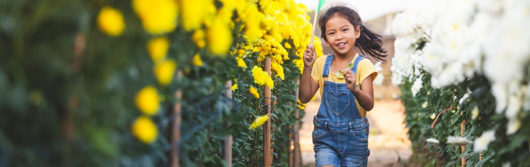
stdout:
<svg viewBox="0 0 530 167">
<path fill-rule="evenodd" d="M 103 33 L 109 36 L 120 36 L 125 29 L 123 15 L 117 9 L 105 6 L 98 14 L 98 26 Z"/>
</svg>

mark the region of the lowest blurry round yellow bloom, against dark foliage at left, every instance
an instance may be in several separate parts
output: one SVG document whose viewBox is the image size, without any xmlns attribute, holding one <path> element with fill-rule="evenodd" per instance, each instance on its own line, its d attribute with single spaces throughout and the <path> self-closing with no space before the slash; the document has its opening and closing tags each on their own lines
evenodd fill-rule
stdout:
<svg viewBox="0 0 530 167">
<path fill-rule="evenodd" d="M 152 143 L 156 140 L 158 135 L 158 130 L 156 125 L 153 123 L 151 118 L 147 116 L 140 116 L 133 123 L 133 135 L 138 138 L 138 140 L 144 143 Z"/>
</svg>

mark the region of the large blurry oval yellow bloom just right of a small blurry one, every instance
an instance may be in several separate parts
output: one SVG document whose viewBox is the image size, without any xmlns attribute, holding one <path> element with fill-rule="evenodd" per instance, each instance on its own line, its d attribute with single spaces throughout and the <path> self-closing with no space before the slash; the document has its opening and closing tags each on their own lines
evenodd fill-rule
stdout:
<svg viewBox="0 0 530 167">
<path fill-rule="evenodd" d="M 208 49 L 211 53 L 225 56 L 232 45 L 232 31 L 228 25 L 216 19 L 206 32 Z"/>
</svg>

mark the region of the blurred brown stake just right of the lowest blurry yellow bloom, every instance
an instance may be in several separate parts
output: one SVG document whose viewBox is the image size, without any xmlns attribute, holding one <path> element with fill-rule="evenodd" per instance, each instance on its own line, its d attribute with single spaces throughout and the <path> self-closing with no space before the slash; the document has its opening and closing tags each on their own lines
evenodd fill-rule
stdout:
<svg viewBox="0 0 530 167">
<path fill-rule="evenodd" d="M 176 74 L 177 80 L 180 80 L 182 76 L 182 71 L 178 71 Z M 171 157 L 170 157 L 170 165 L 172 167 L 178 167 L 179 166 L 179 145 L 180 145 L 180 125 L 182 122 L 182 104 L 180 103 L 180 100 L 182 99 L 182 91 L 176 90 L 175 91 L 175 97 L 176 100 L 178 100 L 173 105 L 173 115 L 175 116 L 175 120 L 172 124 L 172 132 L 171 135 Z"/>
</svg>

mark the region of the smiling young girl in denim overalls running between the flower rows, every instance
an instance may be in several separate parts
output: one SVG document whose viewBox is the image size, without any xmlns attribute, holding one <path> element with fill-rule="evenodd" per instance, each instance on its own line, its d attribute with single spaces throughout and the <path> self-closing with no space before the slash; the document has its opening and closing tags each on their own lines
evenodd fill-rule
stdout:
<svg viewBox="0 0 530 167">
<path fill-rule="evenodd" d="M 383 38 L 366 29 L 359 14 L 345 6 L 328 9 L 319 26 L 333 54 L 316 60 L 314 46 L 307 45 L 298 94 L 302 103 L 309 102 L 319 88 L 322 95 L 313 117 L 316 166 L 367 166 L 366 112 L 374 107 L 372 82 L 377 72 L 354 48 L 384 61 Z"/>
</svg>

